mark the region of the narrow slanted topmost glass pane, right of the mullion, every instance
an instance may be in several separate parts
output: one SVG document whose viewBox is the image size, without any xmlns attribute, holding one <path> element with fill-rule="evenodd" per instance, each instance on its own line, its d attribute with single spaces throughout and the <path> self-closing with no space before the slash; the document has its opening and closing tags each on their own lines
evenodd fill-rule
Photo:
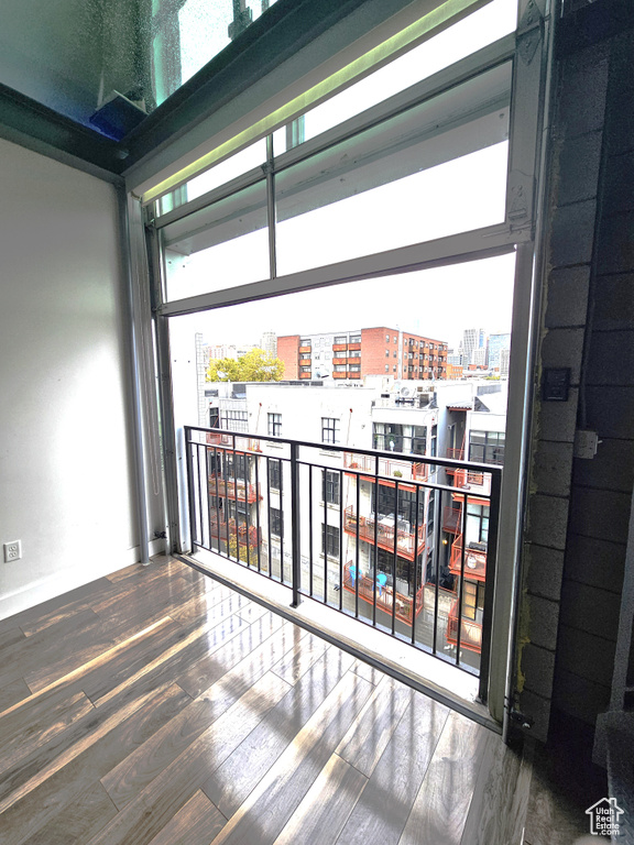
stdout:
<svg viewBox="0 0 634 845">
<path fill-rule="evenodd" d="M 513 32 L 517 0 L 493 2 L 425 41 L 389 65 L 310 109 L 274 133 L 275 155 L 309 141 L 365 109 Z"/>
</svg>

